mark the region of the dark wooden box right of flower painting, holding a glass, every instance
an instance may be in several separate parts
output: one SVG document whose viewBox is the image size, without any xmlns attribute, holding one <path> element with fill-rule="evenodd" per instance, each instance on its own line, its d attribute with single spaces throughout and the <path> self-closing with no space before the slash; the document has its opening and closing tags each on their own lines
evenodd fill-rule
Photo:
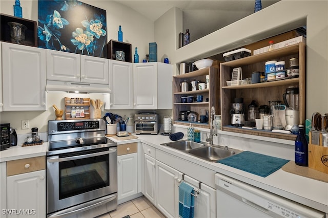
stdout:
<svg viewBox="0 0 328 218">
<path fill-rule="evenodd" d="M 107 58 L 115 60 L 116 51 L 124 51 L 125 61 L 132 62 L 131 44 L 111 39 L 107 43 Z"/>
</svg>

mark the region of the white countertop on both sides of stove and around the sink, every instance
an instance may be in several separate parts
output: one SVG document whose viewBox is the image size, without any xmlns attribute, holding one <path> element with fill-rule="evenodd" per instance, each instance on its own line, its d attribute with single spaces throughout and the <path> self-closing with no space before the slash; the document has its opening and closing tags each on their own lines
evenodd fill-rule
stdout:
<svg viewBox="0 0 328 218">
<path fill-rule="evenodd" d="M 268 177 L 263 178 L 224 164 L 208 162 L 188 155 L 186 152 L 160 145 L 161 143 L 172 142 L 168 136 L 136 136 L 138 138 L 132 140 L 115 140 L 112 137 L 109 137 L 109 139 L 116 142 L 117 145 L 132 142 L 144 142 L 155 147 L 156 149 L 168 152 L 169 154 L 181 159 L 191 161 L 213 171 L 278 194 L 284 198 L 288 198 L 295 202 L 299 202 L 301 204 L 308 205 L 309 207 L 328 213 L 328 183 L 298 176 L 293 173 L 285 172 L 282 169 L 279 169 Z M 185 136 L 183 139 L 187 139 L 187 137 Z M 43 145 L 27 147 L 22 147 L 22 145 L 13 146 L 6 150 L 0 151 L 0 162 L 46 156 L 48 146 L 48 142 L 43 143 Z"/>
</svg>

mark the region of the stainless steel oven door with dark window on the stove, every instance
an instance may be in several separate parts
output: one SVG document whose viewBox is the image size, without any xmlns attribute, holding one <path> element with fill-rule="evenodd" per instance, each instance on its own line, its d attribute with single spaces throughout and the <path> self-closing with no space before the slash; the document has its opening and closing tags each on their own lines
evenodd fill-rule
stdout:
<svg viewBox="0 0 328 218">
<path fill-rule="evenodd" d="M 47 157 L 47 213 L 117 192 L 117 147 Z"/>
</svg>

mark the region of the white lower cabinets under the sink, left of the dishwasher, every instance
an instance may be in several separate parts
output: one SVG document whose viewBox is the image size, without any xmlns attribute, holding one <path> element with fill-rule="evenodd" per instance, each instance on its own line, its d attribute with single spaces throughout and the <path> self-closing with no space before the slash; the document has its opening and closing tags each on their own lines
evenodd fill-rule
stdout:
<svg viewBox="0 0 328 218">
<path fill-rule="evenodd" d="M 166 217 L 179 217 L 179 185 L 183 181 L 192 186 L 195 190 L 193 193 L 197 195 L 194 199 L 194 217 L 215 217 L 216 189 L 192 177 L 197 177 L 197 174 L 186 175 L 171 167 L 170 160 L 163 159 L 162 154 L 163 151 L 156 151 L 154 147 L 144 144 L 143 193 L 145 197 Z M 156 160 L 157 158 L 161 160 Z M 179 159 L 174 164 L 183 166 L 188 163 L 190 162 Z M 197 170 L 200 169 L 195 169 L 195 173 Z"/>
</svg>

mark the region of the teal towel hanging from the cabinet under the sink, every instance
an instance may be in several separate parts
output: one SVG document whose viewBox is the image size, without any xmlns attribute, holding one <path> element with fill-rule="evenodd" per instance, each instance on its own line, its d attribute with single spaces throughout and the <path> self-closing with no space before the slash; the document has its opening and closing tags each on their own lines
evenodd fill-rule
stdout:
<svg viewBox="0 0 328 218">
<path fill-rule="evenodd" d="M 185 182 L 179 186 L 179 217 L 193 218 L 194 217 L 194 197 L 191 195 L 193 187 Z"/>
</svg>

